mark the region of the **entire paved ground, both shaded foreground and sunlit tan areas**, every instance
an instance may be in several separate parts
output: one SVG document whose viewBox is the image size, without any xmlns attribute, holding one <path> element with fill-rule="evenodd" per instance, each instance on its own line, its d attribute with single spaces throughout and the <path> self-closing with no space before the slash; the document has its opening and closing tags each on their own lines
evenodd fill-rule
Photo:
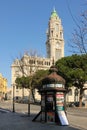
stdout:
<svg viewBox="0 0 87 130">
<path fill-rule="evenodd" d="M 31 105 L 31 116 L 28 117 L 26 105 L 16 105 L 17 113 L 12 113 L 9 102 L 0 103 L 0 106 L 5 109 L 0 109 L 0 130 L 38 130 L 38 127 L 39 130 L 54 130 L 54 128 L 55 130 L 87 130 L 87 108 L 68 108 L 69 126 L 58 126 L 40 121 L 32 122 L 35 114 L 40 111 L 40 106 Z"/>
</svg>

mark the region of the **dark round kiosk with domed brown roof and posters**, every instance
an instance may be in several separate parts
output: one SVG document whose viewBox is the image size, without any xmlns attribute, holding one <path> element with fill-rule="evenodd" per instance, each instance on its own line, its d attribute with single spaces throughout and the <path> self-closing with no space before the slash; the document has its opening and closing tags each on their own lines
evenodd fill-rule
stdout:
<svg viewBox="0 0 87 130">
<path fill-rule="evenodd" d="M 51 74 L 42 80 L 41 111 L 33 121 L 40 116 L 40 120 L 43 122 L 69 125 L 65 110 L 65 80 L 57 75 L 55 66 L 51 66 L 49 71 Z"/>
</svg>

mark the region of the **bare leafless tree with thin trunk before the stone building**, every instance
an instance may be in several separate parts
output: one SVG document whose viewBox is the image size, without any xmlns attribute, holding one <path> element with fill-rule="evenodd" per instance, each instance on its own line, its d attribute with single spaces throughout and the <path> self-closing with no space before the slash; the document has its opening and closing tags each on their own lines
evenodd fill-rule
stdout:
<svg viewBox="0 0 87 130">
<path fill-rule="evenodd" d="M 35 64 L 35 61 L 37 59 L 36 51 L 30 51 L 30 53 L 25 53 L 23 56 L 20 56 L 20 59 L 16 59 L 14 63 L 16 62 L 15 69 L 17 71 L 17 77 L 16 78 L 29 78 L 29 85 L 27 86 L 29 88 L 29 103 L 28 103 L 28 115 L 30 115 L 30 95 L 33 94 L 32 89 L 32 79 L 33 74 L 35 71 L 38 70 L 38 64 Z M 22 79 L 24 80 L 24 79 Z M 22 82 L 22 88 L 24 89 L 23 82 Z"/>
</svg>

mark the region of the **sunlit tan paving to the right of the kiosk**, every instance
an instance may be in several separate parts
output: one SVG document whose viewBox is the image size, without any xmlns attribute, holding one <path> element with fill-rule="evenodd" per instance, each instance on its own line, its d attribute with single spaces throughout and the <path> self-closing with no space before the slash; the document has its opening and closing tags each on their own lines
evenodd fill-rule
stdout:
<svg viewBox="0 0 87 130">
<path fill-rule="evenodd" d="M 87 108 L 68 108 L 67 117 L 70 125 L 87 130 Z"/>
</svg>

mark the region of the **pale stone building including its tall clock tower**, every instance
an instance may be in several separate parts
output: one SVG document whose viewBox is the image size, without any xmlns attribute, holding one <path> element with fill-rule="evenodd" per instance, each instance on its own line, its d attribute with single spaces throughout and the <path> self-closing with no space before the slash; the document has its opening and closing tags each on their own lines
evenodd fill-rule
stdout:
<svg viewBox="0 0 87 130">
<path fill-rule="evenodd" d="M 24 75 L 26 73 L 26 75 L 29 76 L 37 69 L 49 69 L 52 65 L 53 59 L 55 62 L 64 57 L 63 27 L 61 24 L 61 19 L 59 18 L 55 9 L 51 13 L 46 34 L 47 58 L 24 54 L 22 58 L 15 59 L 11 65 L 12 85 L 15 84 L 15 79 L 17 77 L 21 77 L 23 73 Z M 20 64 L 24 66 L 24 72 L 20 70 Z M 15 93 L 15 95 L 21 95 L 22 92 L 16 89 Z"/>
</svg>

